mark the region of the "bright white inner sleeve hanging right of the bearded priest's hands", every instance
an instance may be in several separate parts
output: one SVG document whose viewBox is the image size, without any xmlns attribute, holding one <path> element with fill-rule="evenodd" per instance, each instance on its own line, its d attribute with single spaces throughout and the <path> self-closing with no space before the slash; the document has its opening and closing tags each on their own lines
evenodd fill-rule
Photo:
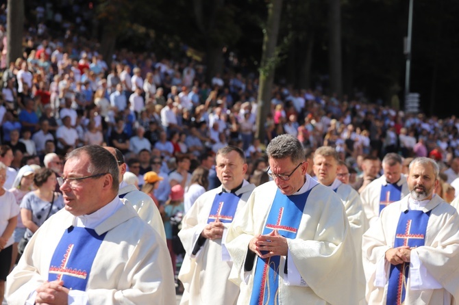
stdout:
<svg viewBox="0 0 459 305">
<path fill-rule="evenodd" d="M 412 290 L 442 289 L 443 287 L 422 264 L 416 250 L 411 251 L 410 288 Z"/>
</svg>

